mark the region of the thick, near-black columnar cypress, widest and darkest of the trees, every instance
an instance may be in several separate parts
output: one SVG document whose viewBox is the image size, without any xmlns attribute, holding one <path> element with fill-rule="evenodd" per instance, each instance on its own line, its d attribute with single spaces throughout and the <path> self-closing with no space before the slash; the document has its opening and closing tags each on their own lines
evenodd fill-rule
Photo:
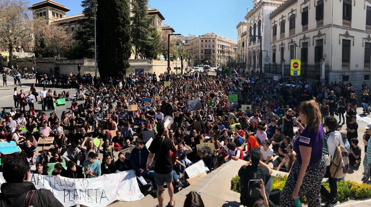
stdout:
<svg viewBox="0 0 371 207">
<path fill-rule="evenodd" d="M 131 54 L 128 1 L 98 0 L 96 18 L 99 74 L 122 75 Z"/>
</svg>

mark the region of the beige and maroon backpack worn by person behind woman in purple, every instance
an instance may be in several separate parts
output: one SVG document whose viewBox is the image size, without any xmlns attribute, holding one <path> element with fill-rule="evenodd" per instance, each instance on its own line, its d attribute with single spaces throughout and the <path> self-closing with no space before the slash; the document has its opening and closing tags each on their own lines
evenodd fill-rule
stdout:
<svg viewBox="0 0 371 207">
<path fill-rule="evenodd" d="M 334 156 L 332 157 L 330 175 L 333 178 L 342 178 L 349 170 L 348 151 L 344 146 L 338 143 L 338 140 L 334 139 L 334 141 L 337 147 L 335 148 Z"/>
</svg>

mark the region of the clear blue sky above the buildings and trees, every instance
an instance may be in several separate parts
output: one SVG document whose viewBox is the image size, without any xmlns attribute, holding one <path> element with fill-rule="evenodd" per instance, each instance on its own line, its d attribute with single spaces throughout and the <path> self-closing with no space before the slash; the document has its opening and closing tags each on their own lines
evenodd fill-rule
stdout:
<svg viewBox="0 0 371 207">
<path fill-rule="evenodd" d="M 30 0 L 35 4 L 42 0 Z M 54 0 L 71 11 L 67 16 L 80 14 L 79 0 Z M 214 32 L 237 40 L 236 25 L 243 21 L 246 9 L 252 9 L 252 0 L 150 0 L 148 6 L 158 9 L 165 17 L 163 24 L 183 35 L 201 35 Z"/>
</svg>

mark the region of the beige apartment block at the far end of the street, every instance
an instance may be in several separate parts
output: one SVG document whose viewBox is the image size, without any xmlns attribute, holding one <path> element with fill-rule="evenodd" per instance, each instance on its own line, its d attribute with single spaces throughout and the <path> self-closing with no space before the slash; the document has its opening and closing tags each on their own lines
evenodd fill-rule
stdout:
<svg viewBox="0 0 371 207">
<path fill-rule="evenodd" d="M 191 39 L 185 49 L 191 54 L 195 64 L 207 64 L 211 67 L 227 66 L 228 57 L 237 56 L 237 43 L 215 33 L 206 33 Z"/>
</svg>

